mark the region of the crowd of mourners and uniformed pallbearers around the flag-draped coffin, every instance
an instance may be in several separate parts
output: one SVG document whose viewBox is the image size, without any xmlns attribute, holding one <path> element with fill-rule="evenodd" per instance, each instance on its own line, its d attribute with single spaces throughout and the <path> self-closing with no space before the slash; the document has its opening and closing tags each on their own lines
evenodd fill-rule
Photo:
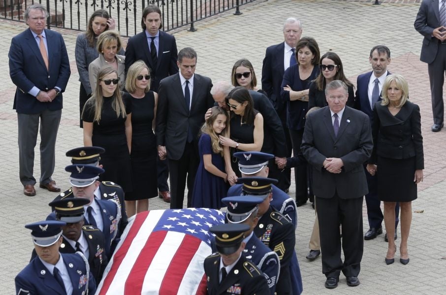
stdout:
<svg viewBox="0 0 446 295">
<path fill-rule="evenodd" d="M 142 32 L 125 50 L 114 19 L 96 10 L 76 40 L 84 146 L 66 152 L 71 188 L 61 192 L 52 174 L 70 69 L 62 35 L 45 29 L 47 16 L 42 5 L 29 6 L 29 29 L 12 39 L 8 55 L 24 194 L 36 195 L 39 122 L 39 187 L 60 193 L 46 221 L 26 226 L 35 249 L 16 277 L 17 294 L 93 294 L 127 218 L 157 196 L 182 209 L 186 186 L 187 207 L 227 207 L 226 224 L 210 229 L 208 294 L 300 294 L 295 230 L 297 207 L 308 200 L 316 218 L 306 259 L 322 254 L 326 288 L 337 287 L 341 271 L 349 286 L 360 284 L 364 239 L 382 234 L 382 221 L 385 263 L 394 262 L 398 224 L 400 262 L 409 263 L 423 142 L 408 83 L 387 69 L 389 48 L 371 49 L 372 71 L 355 88 L 340 56 L 321 54 L 314 38 L 301 36 L 301 22 L 288 18 L 284 42 L 266 48 L 261 87 L 246 58 L 230 80 L 212 82 L 195 73 L 195 50 L 178 51 L 161 30 L 159 7 L 143 10 Z M 291 168 L 295 200 L 287 195 Z"/>
</svg>

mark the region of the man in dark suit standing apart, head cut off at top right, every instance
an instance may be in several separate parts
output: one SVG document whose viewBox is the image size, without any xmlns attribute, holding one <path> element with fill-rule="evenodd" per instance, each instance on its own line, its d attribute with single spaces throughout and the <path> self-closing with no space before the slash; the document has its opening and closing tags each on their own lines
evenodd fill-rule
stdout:
<svg viewBox="0 0 446 295">
<path fill-rule="evenodd" d="M 425 0 L 416 15 L 415 30 L 424 36 L 420 61 L 427 63 L 431 86 L 432 131 L 442 130 L 444 123 L 443 84 L 446 70 L 446 1 Z"/>
</svg>

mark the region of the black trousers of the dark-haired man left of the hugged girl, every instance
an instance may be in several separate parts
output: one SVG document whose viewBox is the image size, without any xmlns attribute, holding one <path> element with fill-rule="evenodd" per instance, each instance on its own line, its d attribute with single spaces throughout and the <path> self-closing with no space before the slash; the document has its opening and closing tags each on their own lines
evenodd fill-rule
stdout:
<svg viewBox="0 0 446 295">
<path fill-rule="evenodd" d="M 188 207 L 191 206 L 193 183 L 200 159 L 196 144 L 186 143 L 183 156 L 179 160 L 168 159 L 170 173 L 170 209 L 182 209 L 184 190 L 188 185 Z"/>
</svg>

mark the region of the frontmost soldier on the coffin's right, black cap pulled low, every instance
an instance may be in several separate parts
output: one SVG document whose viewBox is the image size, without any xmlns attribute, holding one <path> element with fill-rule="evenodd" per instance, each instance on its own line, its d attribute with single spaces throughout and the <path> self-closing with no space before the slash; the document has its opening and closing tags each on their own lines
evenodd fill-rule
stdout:
<svg viewBox="0 0 446 295">
<path fill-rule="evenodd" d="M 209 295 L 269 295 L 265 277 L 257 266 L 242 255 L 244 232 L 249 226 L 223 224 L 209 229 L 216 236 L 219 252 L 204 260 Z"/>
</svg>

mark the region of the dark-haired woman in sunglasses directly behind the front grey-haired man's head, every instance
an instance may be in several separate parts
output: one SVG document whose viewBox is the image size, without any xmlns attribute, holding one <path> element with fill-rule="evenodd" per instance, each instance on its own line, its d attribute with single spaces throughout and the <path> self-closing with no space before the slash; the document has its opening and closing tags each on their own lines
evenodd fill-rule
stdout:
<svg viewBox="0 0 446 295">
<path fill-rule="evenodd" d="M 341 58 L 336 53 L 329 51 L 320 57 L 319 68 L 320 73 L 318 77 L 310 84 L 308 109 L 315 106 L 324 107 L 328 105 L 325 98 L 325 86 L 334 80 L 340 80 L 347 85 L 349 94 L 347 106 L 353 107 L 353 84 L 344 75 L 344 66 Z"/>
</svg>

